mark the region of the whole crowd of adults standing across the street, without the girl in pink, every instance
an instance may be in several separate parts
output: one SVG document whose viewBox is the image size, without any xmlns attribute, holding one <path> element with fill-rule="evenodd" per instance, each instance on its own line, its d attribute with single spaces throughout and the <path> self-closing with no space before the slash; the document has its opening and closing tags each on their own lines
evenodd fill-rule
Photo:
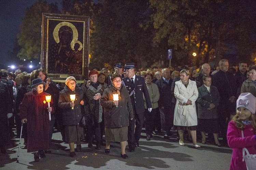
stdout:
<svg viewBox="0 0 256 170">
<path fill-rule="evenodd" d="M 117 63 L 113 73 L 107 68 L 94 69 L 84 83 L 70 76 L 57 84 L 42 69 L 31 73 L 1 70 L 1 152 L 6 153 L 5 145 L 15 135 L 12 128 L 21 135 L 21 123 L 24 145 L 28 152 L 34 152 L 35 162 L 51 153 L 54 128 L 69 143 L 71 157 L 81 151 L 81 141 L 92 148 L 96 140 L 96 150 L 105 141 L 106 154 L 110 153 L 110 142 L 119 141 L 121 157 L 128 158 L 126 142 L 134 152 L 143 127 L 148 141 L 153 135 L 169 139 L 177 131 L 180 146 L 192 142 L 200 148 L 199 140 L 232 148 L 228 123 L 238 113 L 240 94 L 256 97 L 256 66 L 247 69 L 246 62 L 239 62 L 231 67 L 222 59 L 216 69 L 207 63 L 199 68 L 135 68 L 134 63 L 124 67 Z M 50 106 L 45 99 L 48 95 L 52 97 Z"/>
</svg>

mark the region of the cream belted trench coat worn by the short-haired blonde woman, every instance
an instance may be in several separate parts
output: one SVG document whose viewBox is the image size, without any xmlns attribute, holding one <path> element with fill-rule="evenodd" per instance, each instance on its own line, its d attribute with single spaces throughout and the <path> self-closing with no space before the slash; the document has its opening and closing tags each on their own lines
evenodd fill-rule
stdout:
<svg viewBox="0 0 256 170">
<path fill-rule="evenodd" d="M 195 81 L 189 80 L 187 88 L 182 84 L 181 80 L 175 82 L 174 96 L 177 99 L 174 110 L 173 124 L 176 126 L 196 126 L 196 100 L 198 98 L 198 90 Z M 192 101 L 192 105 L 184 105 L 187 100 Z"/>
</svg>

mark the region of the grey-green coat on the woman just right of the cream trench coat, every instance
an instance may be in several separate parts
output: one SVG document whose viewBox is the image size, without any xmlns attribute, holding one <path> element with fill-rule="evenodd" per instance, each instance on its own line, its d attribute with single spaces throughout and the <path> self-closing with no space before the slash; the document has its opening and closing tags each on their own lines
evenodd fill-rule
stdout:
<svg viewBox="0 0 256 170">
<path fill-rule="evenodd" d="M 217 107 L 219 105 L 219 92 L 217 87 L 210 86 L 210 92 L 204 86 L 204 84 L 198 87 L 198 115 L 199 119 L 217 119 Z M 215 105 L 214 108 L 208 110 L 210 104 L 213 103 Z"/>
</svg>

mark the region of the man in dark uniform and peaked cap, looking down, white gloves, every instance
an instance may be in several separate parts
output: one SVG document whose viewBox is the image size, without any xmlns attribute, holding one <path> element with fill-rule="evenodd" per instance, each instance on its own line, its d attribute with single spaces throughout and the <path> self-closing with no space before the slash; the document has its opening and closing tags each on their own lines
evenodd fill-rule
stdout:
<svg viewBox="0 0 256 170">
<path fill-rule="evenodd" d="M 134 119 L 129 120 L 128 146 L 130 152 L 134 152 L 135 147 L 139 147 L 140 134 L 144 124 L 145 108 L 143 94 L 145 96 L 146 105 L 149 112 L 152 110 L 152 105 L 144 78 L 134 74 L 134 63 L 125 64 L 124 72 L 127 77 L 123 79 L 123 83 L 129 92 L 134 114 Z M 136 128 L 134 132 L 135 124 Z"/>
</svg>

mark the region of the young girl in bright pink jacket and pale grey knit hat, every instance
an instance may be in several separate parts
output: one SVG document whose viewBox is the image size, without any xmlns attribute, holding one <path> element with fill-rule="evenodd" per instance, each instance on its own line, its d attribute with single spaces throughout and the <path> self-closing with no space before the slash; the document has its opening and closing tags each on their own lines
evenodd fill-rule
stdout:
<svg viewBox="0 0 256 170">
<path fill-rule="evenodd" d="M 228 123 L 227 140 L 233 149 L 230 170 L 246 170 L 243 148 L 247 148 L 250 154 L 256 154 L 255 111 L 256 98 L 251 93 L 242 93 L 237 99 L 237 114 Z"/>
</svg>

